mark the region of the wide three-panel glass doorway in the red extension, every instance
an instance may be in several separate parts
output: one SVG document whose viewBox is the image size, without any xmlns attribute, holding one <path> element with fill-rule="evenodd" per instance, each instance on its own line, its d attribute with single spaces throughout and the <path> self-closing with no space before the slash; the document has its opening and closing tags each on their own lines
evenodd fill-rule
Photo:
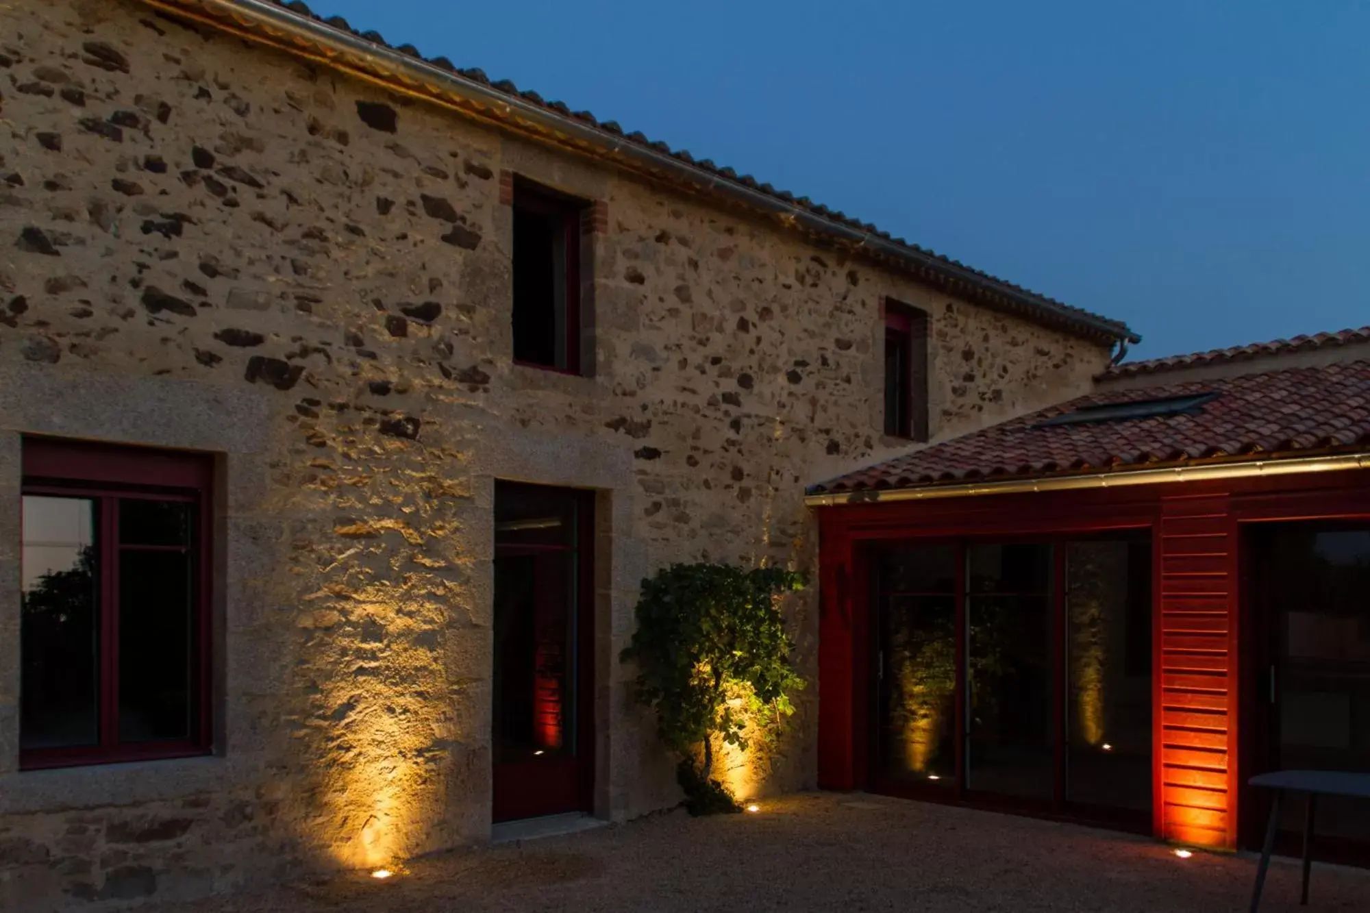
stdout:
<svg viewBox="0 0 1370 913">
<path fill-rule="evenodd" d="M 878 791 L 1151 823 L 1151 533 L 875 555 Z"/>
</svg>

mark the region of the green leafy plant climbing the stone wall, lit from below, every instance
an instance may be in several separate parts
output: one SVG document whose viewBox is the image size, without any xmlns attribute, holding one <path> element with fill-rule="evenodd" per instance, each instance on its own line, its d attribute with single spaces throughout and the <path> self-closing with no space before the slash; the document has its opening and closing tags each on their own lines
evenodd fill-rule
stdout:
<svg viewBox="0 0 1370 913">
<path fill-rule="evenodd" d="M 682 758 L 692 814 L 740 810 L 714 779 L 714 740 L 745 748 L 748 720 L 780 724 L 795 711 L 789 695 L 804 680 L 777 599 L 803 587 L 782 568 L 721 563 L 671 565 L 643 581 L 622 661 L 637 664 L 634 698 L 656 711 L 662 740 Z"/>
</svg>

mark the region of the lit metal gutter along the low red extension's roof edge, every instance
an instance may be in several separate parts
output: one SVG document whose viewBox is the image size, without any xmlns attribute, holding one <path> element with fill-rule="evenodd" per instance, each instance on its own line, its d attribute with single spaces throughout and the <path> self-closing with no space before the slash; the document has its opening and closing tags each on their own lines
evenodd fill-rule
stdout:
<svg viewBox="0 0 1370 913">
<path fill-rule="evenodd" d="M 971 498 L 980 495 L 1017 495 L 1026 492 L 1080 491 L 1085 488 L 1123 488 L 1128 485 L 1163 485 L 1229 478 L 1274 478 L 1303 473 L 1330 473 L 1348 469 L 1370 469 L 1370 452 L 1338 456 L 1293 456 L 1289 459 L 1258 459 L 1240 463 L 1206 463 L 1200 466 L 1171 466 L 1169 469 L 1138 469 L 1133 472 L 1091 473 L 1088 476 L 1058 476 L 1051 478 L 1010 478 L 991 483 L 956 485 L 929 485 L 926 488 L 893 488 L 827 492 L 808 495 L 810 507 L 838 507 L 843 504 L 873 504 L 899 500 L 941 500 L 944 498 Z"/>
</svg>

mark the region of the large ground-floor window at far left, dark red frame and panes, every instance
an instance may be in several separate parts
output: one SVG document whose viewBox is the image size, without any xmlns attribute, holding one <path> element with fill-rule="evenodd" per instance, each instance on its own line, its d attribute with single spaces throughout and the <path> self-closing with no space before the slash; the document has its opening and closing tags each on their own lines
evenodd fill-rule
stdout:
<svg viewBox="0 0 1370 913">
<path fill-rule="evenodd" d="M 19 764 L 210 750 L 204 455 L 23 441 Z"/>
</svg>

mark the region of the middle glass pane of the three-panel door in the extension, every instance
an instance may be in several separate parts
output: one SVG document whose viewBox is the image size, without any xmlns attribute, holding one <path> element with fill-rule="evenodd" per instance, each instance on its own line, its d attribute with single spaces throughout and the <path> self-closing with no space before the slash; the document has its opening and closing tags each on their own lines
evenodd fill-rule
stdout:
<svg viewBox="0 0 1370 913">
<path fill-rule="evenodd" d="M 970 581 L 1015 595 L 966 598 L 967 786 L 1003 795 L 1055 795 L 1049 546 L 973 546 Z"/>
</svg>

